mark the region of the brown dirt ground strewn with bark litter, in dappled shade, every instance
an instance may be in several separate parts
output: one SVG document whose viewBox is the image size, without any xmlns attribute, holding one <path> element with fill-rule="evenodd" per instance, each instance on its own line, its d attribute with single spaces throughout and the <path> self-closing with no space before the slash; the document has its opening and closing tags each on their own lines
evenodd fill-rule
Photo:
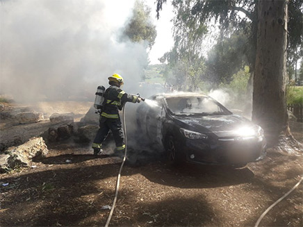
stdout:
<svg viewBox="0 0 303 227">
<path fill-rule="evenodd" d="M 303 142 L 303 124 L 290 126 Z M 104 226 L 122 160 L 90 153 L 50 144 L 47 158 L 1 174 L 0 226 Z M 302 154 L 275 149 L 241 169 L 172 168 L 151 157 L 138 167 L 124 165 L 110 226 L 254 226 L 302 175 Z M 303 183 L 259 226 L 303 226 L 302 210 Z"/>
</svg>

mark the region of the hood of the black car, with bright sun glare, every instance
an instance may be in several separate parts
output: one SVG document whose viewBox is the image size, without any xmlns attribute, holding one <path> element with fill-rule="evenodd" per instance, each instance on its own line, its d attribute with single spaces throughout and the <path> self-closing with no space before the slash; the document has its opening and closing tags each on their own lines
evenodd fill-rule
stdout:
<svg viewBox="0 0 303 227">
<path fill-rule="evenodd" d="M 218 137 L 234 137 L 238 135 L 238 128 L 255 126 L 251 121 L 238 115 L 182 116 L 174 118 L 190 126 L 188 129 L 199 133 L 214 133 Z"/>
</svg>

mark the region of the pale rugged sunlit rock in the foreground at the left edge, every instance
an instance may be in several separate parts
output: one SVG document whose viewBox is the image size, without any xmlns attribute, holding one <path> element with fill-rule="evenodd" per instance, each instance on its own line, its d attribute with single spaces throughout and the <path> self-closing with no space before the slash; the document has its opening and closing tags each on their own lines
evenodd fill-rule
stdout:
<svg viewBox="0 0 303 227">
<path fill-rule="evenodd" d="M 42 137 L 33 137 L 20 146 L 8 148 L 5 153 L 0 158 L 1 172 L 15 167 L 27 167 L 33 158 L 47 155 L 48 149 Z"/>
</svg>

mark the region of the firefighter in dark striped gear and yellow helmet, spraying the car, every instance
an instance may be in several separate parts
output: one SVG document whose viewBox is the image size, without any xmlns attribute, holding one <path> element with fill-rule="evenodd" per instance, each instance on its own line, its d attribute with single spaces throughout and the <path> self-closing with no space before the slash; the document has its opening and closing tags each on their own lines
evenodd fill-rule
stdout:
<svg viewBox="0 0 303 227">
<path fill-rule="evenodd" d="M 108 87 L 104 93 L 104 107 L 102 108 L 99 120 L 100 128 L 97 131 L 94 142 L 92 143 L 94 155 L 98 155 L 101 150 L 101 144 L 108 135 L 109 130 L 113 133 L 117 152 L 124 153 L 124 132 L 119 116 L 119 110 L 122 110 L 126 101 L 132 103 L 140 103 L 141 101 L 140 97 L 133 94 L 126 94 L 120 88 L 124 84 L 124 81 L 122 76 L 119 74 L 113 74 L 113 76 L 108 77 L 108 83 L 110 87 Z"/>
</svg>

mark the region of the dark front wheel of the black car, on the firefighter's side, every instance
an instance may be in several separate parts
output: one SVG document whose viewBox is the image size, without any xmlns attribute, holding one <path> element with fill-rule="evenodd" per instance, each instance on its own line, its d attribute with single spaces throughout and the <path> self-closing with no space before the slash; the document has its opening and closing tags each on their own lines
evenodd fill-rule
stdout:
<svg viewBox="0 0 303 227">
<path fill-rule="evenodd" d="M 176 146 L 174 137 L 168 137 L 166 141 L 167 163 L 168 165 L 177 166 L 184 162 L 181 151 Z"/>
</svg>

